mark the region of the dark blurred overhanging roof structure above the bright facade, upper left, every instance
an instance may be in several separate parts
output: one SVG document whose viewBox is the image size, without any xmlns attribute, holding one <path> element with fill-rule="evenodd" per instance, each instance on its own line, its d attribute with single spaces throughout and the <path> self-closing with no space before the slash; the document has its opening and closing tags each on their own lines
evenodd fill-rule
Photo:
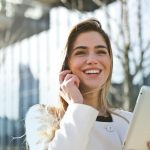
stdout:
<svg viewBox="0 0 150 150">
<path fill-rule="evenodd" d="M 92 12 L 103 4 L 116 0 L 1 0 L 0 48 L 21 41 L 49 28 L 49 11 L 64 7 L 81 12 Z M 6 38 L 7 32 L 9 37 Z M 24 34 L 21 34 L 24 31 Z M 15 35 L 15 37 L 14 37 Z"/>
</svg>

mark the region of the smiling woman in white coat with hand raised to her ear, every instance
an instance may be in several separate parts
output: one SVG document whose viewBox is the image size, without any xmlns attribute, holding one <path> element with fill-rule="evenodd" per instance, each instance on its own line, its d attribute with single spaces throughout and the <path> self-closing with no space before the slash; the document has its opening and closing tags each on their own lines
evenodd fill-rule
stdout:
<svg viewBox="0 0 150 150">
<path fill-rule="evenodd" d="M 96 19 L 70 32 L 59 75 L 60 106 L 35 105 L 26 116 L 30 150 L 121 150 L 130 112 L 112 109 L 107 94 L 112 50 Z"/>
</svg>

